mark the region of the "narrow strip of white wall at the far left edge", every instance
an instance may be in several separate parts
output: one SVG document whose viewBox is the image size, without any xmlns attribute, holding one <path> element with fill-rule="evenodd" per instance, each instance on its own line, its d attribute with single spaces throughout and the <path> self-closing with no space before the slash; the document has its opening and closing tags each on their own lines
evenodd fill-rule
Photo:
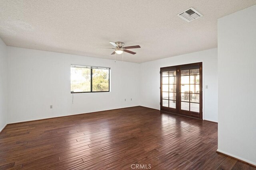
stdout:
<svg viewBox="0 0 256 170">
<path fill-rule="evenodd" d="M 7 121 L 7 47 L 0 39 L 0 131 Z"/>
</svg>

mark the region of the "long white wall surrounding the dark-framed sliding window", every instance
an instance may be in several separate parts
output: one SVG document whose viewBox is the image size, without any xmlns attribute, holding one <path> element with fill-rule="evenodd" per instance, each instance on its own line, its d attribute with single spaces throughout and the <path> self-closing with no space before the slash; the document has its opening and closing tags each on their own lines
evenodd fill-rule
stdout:
<svg viewBox="0 0 256 170">
<path fill-rule="evenodd" d="M 8 47 L 8 64 L 8 123 L 139 105 L 137 63 Z M 74 94 L 72 104 L 70 64 L 111 67 L 111 92 Z"/>
</svg>

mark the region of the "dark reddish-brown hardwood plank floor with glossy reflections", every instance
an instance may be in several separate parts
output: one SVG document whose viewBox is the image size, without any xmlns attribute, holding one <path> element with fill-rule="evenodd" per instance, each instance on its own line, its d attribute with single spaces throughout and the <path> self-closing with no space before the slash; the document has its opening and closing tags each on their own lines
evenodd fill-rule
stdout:
<svg viewBox="0 0 256 170">
<path fill-rule="evenodd" d="M 16 123 L 0 134 L 0 169 L 256 169 L 217 154 L 217 135 L 217 123 L 140 106 Z"/>
</svg>

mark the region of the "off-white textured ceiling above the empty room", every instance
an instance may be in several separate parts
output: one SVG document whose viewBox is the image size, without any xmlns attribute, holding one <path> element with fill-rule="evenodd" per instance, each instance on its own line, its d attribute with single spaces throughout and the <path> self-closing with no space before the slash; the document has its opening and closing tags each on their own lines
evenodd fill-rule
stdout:
<svg viewBox="0 0 256 170">
<path fill-rule="evenodd" d="M 114 59 L 108 41 L 122 41 L 142 63 L 217 47 L 217 19 L 256 0 L 0 0 L 0 37 L 6 45 Z M 176 16 L 193 7 L 203 17 Z M 118 59 L 122 55 L 117 55 Z"/>
</svg>

